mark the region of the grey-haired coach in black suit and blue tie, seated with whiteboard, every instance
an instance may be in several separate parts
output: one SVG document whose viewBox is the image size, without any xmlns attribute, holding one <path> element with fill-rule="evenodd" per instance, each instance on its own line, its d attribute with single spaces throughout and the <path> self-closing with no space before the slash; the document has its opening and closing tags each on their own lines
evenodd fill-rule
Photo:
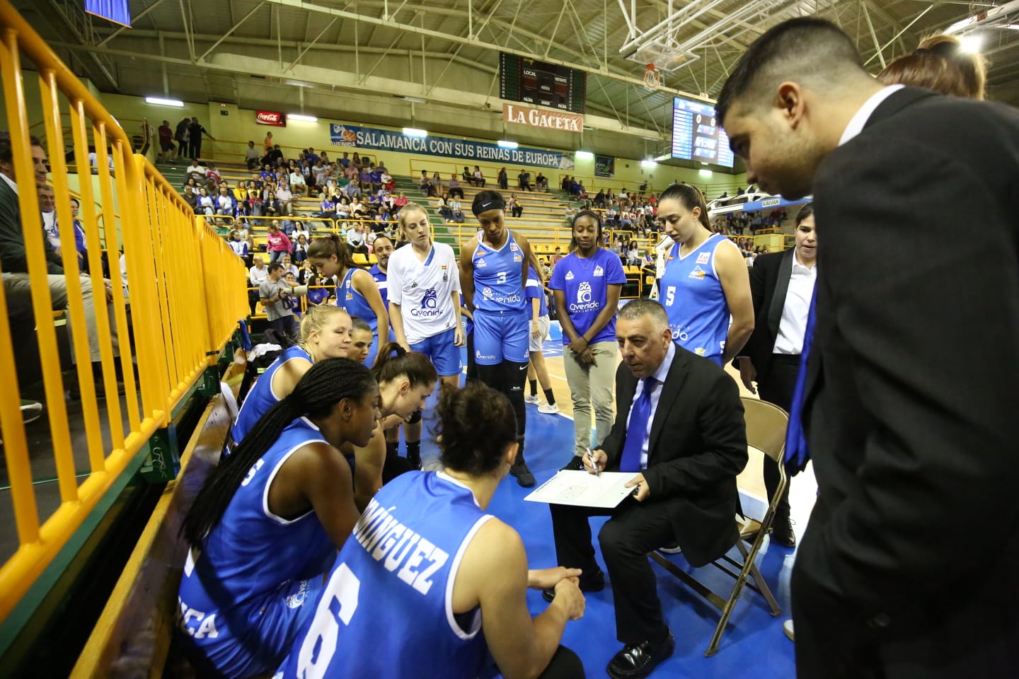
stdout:
<svg viewBox="0 0 1019 679">
<path fill-rule="evenodd" d="M 625 364 L 615 373 L 615 423 L 583 457 L 588 471 L 632 471 L 635 495 L 612 510 L 551 505 L 561 566 L 581 568 L 581 589 L 597 591 L 588 517 L 609 515 L 598 533 L 615 601 L 615 634 L 625 645 L 611 677 L 645 677 L 673 654 L 647 553 L 679 544 L 702 566 L 736 544 L 736 475 L 747 437 L 736 383 L 713 361 L 673 342 L 664 307 L 635 299 L 620 309 L 615 337 Z M 549 599 L 554 592 L 546 591 Z"/>
</svg>

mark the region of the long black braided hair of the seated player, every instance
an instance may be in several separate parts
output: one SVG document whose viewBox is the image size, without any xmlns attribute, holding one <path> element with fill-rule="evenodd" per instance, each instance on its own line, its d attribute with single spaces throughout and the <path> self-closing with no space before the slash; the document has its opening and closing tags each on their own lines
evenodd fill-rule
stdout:
<svg viewBox="0 0 1019 679">
<path fill-rule="evenodd" d="M 374 386 L 371 372 L 347 358 L 327 358 L 312 365 L 293 391 L 269 408 L 233 452 L 209 472 L 181 526 L 187 542 L 201 544 L 219 524 L 252 466 L 290 422 L 302 415 L 325 417 L 336 403 L 344 398 L 360 401 Z"/>
</svg>

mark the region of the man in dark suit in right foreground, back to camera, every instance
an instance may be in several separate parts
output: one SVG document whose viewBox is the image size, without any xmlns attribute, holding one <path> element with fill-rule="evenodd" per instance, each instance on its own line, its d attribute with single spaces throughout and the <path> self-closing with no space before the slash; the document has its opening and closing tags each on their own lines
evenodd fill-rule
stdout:
<svg viewBox="0 0 1019 679">
<path fill-rule="evenodd" d="M 798 677 L 1015 677 L 1019 112 L 883 88 L 807 17 L 755 41 L 716 108 L 747 180 L 812 192 L 822 238 L 789 438 L 818 486 Z"/>
</svg>

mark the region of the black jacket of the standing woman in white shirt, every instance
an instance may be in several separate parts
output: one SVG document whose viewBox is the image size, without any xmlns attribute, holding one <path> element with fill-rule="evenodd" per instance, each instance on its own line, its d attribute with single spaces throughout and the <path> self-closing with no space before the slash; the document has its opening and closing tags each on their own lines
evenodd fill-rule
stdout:
<svg viewBox="0 0 1019 679">
<path fill-rule="evenodd" d="M 771 369 L 774 340 L 779 337 L 782 310 L 786 306 L 789 292 L 789 277 L 793 274 L 793 260 L 796 248 L 783 252 L 759 254 L 750 268 L 750 292 L 754 303 L 754 332 L 740 350 L 740 355 L 748 356 L 757 370 L 759 381 L 767 380 Z M 734 360 L 736 367 L 739 363 Z"/>
</svg>

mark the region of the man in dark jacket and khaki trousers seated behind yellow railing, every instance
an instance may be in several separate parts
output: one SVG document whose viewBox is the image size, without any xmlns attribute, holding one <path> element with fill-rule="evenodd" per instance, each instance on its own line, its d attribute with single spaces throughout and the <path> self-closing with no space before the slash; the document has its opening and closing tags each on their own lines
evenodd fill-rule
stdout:
<svg viewBox="0 0 1019 679">
<path fill-rule="evenodd" d="M 29 144 L 35 173 L 32 177 L 25 177 L 26 181 L 22 181 L 21 183 L 24 186 L 45 184 L 49 165 L 46 158 L 46 151 L 43 149 L 42 143 L 35 136 L 30 137 Z M 24 186 L 22 186 L 22 189 Z M 29 280 L 29 263 L 25 257 L 23 227 L 20 204 L 18 203 L 18 185 L 14 181 L 13 152 L 11 150 L 10 135 L 4 131 L 0 132 L 0 272 L 2 272 L 0 277 L 3 280 L 4 293 L 7 298 L 7 313 L 11 325 L 31 333 L 35 327 L 35 318 L 32 308 L 32 292 Z M 45 237 L 45 234 L 43 246 L 45 248 L 46 271 L 48 273 L 47 282 L 50 288 L 51 303 L 54 309 L 66 308 L 67 280 L 63 275 L 63 262 L 50 247 L 49 239 Z M 107 283 L 105 297 L 99 297 L 97 300 L 92 287 L 92 278 L 82 276 L 79 282 L 82 286 L 82 306 L 85 310 L 89 341 L 89 358 L 92 361 L 93 374 L 96 377 L 98 385 L 102 384 L 102 371 L 98 362 L 101 359 L 101 355 L 99 351 L 99 331 L 96 326 L 97 305 L 103 305 L 108 312 L 113 355 L 119 355 L 119 341 L 116 323 L 113 319 L 113 307 L 109 305 L 109 302 L 113 299 L 113 294 L 109 283 Z M 104 298 L 105 303 L 103 302 Z M 67 325 L 67 331 L 70 332 L 70 324 Z M 73 344 L 71 344 L 71 360 L 75 363 L 78 361 L 78 356 L 73 351 Z M 118 387 L 122 388 L 122 385 L 118 385 Z M 71 387 L 70 396 L 71 398 L 79 398 L 76 386 Z"/>
</svg>

